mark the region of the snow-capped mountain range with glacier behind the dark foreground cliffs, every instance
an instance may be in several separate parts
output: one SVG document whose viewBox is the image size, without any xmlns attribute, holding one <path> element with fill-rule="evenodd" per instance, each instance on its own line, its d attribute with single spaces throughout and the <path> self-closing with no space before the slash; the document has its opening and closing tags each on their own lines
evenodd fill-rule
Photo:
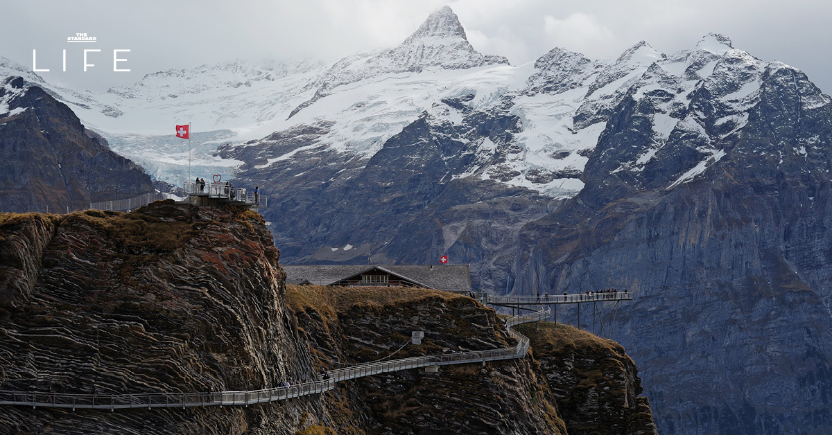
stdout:
<svg viewBox="0 0 832 435">
<path fill-rule="evenodd" d="M 726 36 L 513 66 L 443 7 L 332 64 L 225 62 L 99 95 L 0 61 L 159 180 L 181 184 L 171 120 L 192 117 L 197 176 L 260 186 L 285 264 L 448 255 L 494 294 L 629 289 L 601 319 L 661 433 L 832 427 L 832 99 Z"/>
</svg>

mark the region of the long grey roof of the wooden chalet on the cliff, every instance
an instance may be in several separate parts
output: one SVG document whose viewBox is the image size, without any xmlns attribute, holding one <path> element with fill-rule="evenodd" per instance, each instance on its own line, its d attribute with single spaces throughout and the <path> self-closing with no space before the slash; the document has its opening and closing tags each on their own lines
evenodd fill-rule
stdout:
<svg viewBox="0 0 832 435">
<path fill-rule="evenodd" d="M 471 291 L 468 264 L 289 264 L 282 267 L 287 284 L 330 285 L 379 269 L 429 289 Z"/>
</svg>

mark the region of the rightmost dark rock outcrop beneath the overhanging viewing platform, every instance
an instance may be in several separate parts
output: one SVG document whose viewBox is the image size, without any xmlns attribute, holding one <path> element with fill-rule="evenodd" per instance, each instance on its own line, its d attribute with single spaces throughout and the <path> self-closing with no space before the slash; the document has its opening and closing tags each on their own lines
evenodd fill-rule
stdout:
<svg viewBox="0 0 832 435">
<path fill-rule="evenodd" d="M 570 435 L 658 434 L 636 364 L 620 344 L 562 324 L 520 329 L 532 340 Z"/>
</svg>

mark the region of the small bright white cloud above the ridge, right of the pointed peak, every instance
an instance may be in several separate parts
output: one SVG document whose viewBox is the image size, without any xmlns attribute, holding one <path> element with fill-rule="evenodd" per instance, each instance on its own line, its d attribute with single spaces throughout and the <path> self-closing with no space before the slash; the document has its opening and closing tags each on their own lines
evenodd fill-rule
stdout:
<svg viewBox="0 0 832 435">
<path fill-rule="evenodd" d="M 547 15 L 543 17 L 543 32 L 552 47 L 573 52 L 594 52 L 597 47 L 610 45 L 615 40 L 612 30 L 597 17 L 583 12 L 574 12 L 562 19 Z"/>
</svg>

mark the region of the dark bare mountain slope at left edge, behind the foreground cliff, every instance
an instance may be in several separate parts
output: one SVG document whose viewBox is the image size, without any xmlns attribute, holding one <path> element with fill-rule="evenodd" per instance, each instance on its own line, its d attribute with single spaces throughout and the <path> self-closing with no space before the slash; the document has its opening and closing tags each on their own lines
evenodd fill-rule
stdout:
<svg viewBox="0 0 832 435">
<path fill-rule="evenodd" d="M 116 155 L 65 104 L 22 77 L 0 86 L 0 210 L 82 210 L 152 192 L 148 175 Z"/>
</svg>

